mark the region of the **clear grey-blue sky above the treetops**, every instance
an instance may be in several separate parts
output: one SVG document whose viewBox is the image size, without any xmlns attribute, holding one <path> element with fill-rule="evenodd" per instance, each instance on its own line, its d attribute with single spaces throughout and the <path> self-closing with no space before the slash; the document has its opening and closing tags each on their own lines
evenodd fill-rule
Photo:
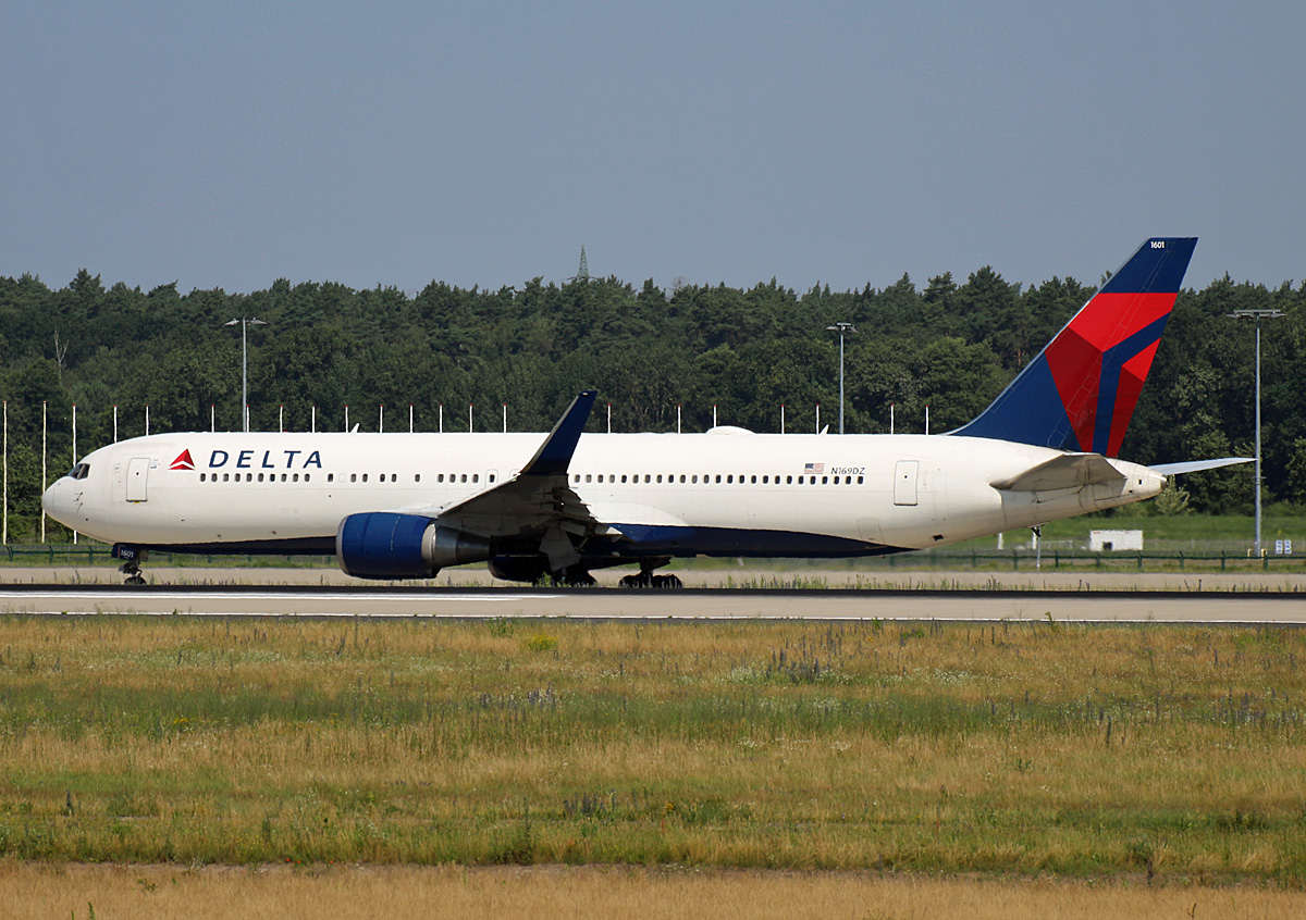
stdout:
<svg viewBox="0 0 1306 920">
<path fill-rule="evenodd" d="M 0 275 L 1306 279 L 1306 4 L 44 0 L 0 14 Z"/>
</svg>

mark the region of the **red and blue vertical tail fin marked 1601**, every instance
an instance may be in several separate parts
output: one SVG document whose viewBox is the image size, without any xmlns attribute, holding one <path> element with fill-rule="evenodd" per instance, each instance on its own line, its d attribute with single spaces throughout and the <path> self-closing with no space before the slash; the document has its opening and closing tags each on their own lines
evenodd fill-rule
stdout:
<svg viewBox="0 0 1306 920">
<path fill-rule="evenodd" d="M 1144 243 L 989 408 L 949 433 L 1118 455 L 1196 243 Z"/>
</svg>

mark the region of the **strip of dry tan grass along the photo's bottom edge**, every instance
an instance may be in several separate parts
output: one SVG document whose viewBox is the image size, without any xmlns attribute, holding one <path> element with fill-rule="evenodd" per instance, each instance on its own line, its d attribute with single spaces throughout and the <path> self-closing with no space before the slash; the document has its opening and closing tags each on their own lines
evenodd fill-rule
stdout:
<svg viewBox="0 0 1306 920">
<path fill-rule="evenodd" d="M 1301 894 L 1047 878 L 939 880 L 853 873 L 643 868 L 182 869 L 0 864 L 4 916 L 154 917 L 855 917 L 972 920 L 1192 916 L 1296 919 Z"/>
</svg>

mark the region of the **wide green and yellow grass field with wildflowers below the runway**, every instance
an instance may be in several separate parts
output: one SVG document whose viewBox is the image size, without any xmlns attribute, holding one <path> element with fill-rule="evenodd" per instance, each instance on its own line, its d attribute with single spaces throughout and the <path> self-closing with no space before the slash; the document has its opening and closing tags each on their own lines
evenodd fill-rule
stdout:
<svg viewBox="0 0 1306 920">
<path fill-rule="evenodd" d="M 1306 633 L 0 619 L 7 860 L 1306 883 Z"/>
</svg>

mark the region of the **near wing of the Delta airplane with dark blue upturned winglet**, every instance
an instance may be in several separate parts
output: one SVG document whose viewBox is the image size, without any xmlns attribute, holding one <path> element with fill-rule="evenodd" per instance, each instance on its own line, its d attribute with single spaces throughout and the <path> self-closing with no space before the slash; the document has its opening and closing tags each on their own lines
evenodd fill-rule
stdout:
<svg viewBox="0 0 1306 920">
<path fill-rule="evenodd" d="M 517 536 L 541 532 L 541 552 L 550 565 L 563 569 L 580 561 L 568 534 L 615 532 L 605 527 L 567 483 L 567 468 L 594 407 L 594 390 L 580 393 L 549 432 L 535 455 L 499 485 L 447 505 L 401 509 L 439 518 L 443 526 L 482 536 Z"/>
</svg>

